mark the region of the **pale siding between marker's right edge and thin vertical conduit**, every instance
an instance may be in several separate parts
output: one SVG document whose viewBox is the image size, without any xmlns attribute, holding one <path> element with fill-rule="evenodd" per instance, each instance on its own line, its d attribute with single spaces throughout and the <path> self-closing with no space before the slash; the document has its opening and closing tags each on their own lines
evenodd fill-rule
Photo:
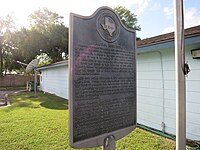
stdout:
<svg viewBox="0 0 200 150">
<path fill-rule="evenodd" d="M 160 53 L 142 53 L 137 56 L 137 121 L 162 130 L 163 76 Z"/>
</svg>

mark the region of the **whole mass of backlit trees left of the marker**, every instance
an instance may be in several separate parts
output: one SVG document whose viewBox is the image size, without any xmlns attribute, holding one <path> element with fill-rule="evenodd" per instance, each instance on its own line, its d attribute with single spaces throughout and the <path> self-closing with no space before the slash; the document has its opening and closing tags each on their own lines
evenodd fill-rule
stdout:
<svg viewBox="0 0 200 150">
<path fill-rule="evenodd" d="M 68 28 L 63 18 L 42 8 L 30 14 L 30 28 L 20 30 L 14 30 L 12 17 L 0 18 L 0 73 L 19 70 L 17 61 L 28 64 L 37 57 L 45 65 L 65 59 Z"/>
</svg>

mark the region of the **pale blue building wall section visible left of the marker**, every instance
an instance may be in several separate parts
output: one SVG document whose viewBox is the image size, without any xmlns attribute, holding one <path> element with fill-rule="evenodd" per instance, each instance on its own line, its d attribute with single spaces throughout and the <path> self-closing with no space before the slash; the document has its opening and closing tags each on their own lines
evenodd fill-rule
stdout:
<svg viewBox="0 0 200 150">
<path fill-rule="evenodd" d="M 41 70 L 40 83 L 42 91 L 68 99 L 67 65 Z"/>
</svg>

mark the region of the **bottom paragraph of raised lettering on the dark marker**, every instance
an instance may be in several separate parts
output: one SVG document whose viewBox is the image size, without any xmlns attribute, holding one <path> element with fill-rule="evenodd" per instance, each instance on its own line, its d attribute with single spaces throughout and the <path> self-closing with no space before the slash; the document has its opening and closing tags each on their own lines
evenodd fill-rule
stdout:
<svg viewBox="0 0 200 150">
<path fill-rule="evenodd" d="M 133 125 L 134 97 L 87 100 L 75 106 L 75 141 Z"/>
</svg>

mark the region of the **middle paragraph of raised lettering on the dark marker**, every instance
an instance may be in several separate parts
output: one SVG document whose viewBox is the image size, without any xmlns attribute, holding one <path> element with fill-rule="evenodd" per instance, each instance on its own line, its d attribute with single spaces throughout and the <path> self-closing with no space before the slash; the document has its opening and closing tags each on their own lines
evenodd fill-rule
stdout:
<svg viewBox="0 0 200 150">
<path fill-rule="evenodd" d="M 98 99 L 103 95 L 127 94 L 134 92 L 132 77 L 79 77 L 75 86 L 76 101 Z"/>
</svg>

